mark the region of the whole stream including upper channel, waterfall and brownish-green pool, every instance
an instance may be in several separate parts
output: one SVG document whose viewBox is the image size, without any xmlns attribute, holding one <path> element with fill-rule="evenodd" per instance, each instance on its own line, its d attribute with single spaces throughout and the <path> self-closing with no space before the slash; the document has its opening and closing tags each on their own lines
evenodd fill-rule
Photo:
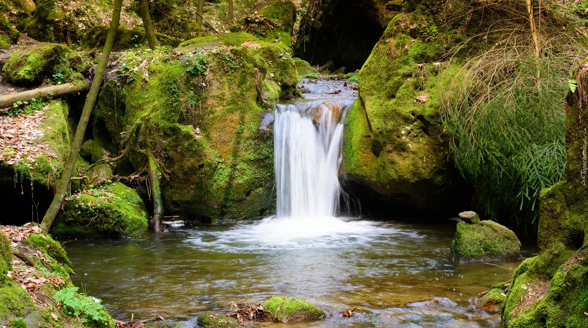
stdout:
<svg viewBox="0 0 588 328">
<path fill-rule="evenodd" d="M 276 105 L 275 216 L 168 227 L 138 239 L 65 240 L 74 284 L 123 321 L 158 311 L 190 327 L 199 313 L 230 310 L 231 299 L 289 296 L 328 313 L 358 306 L 353 317 L 290 327 L 502 327 L 500 313 L 476 310 L 470 298 L 512 271 L 453 262 L 455 219 L 415 223 L 341 212 L 340 143 L 355 95 L 328 93 L 342 81 L 304 82 L 315 100 Z M 534 248 L 523 245 L 523 256 Z"/>
</svg>

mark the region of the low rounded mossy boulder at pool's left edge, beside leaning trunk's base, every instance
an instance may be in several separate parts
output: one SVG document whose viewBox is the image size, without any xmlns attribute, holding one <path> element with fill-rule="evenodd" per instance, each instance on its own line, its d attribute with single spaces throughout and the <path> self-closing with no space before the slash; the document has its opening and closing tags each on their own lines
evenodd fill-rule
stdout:
<svg viewBox="0 0 588 328">
<path fill-rule="evenodd" d="M 70 197 L 55 219 L 55 236 L 138 236 L 148 216 L 135 190 L 115 182 Z"/>
</svg>

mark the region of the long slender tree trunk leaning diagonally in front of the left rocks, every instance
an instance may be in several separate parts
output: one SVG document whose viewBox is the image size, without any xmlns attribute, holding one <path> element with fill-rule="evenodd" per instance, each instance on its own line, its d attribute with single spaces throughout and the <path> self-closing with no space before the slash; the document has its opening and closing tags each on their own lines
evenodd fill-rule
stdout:
<svg viewBox="0 0 588 328">
<path fill-rule="evenodd" d="M 51 206 L 49 206 L 49 209 L 47 210 L 47 213 L 45 213 L 45 217 L 43 217 L 43 221 L 41 222 L 41 229 L 45 230 L 46 232 L 49 232 L 49 229 L 51 229 L 51 225 L 53 225 L 55 217 L 57 216 L 57 213 L 59 213 L 59 209 L 61 209 L 61 205 L 64 202 L 65 195 L 68 192 L 69 181 L 72 177 L 72 173 L 74 172 L 76 160 L 78 159 L 79 148 L 82 146 L 83 135 L 86 132 L 86 126 L 88 126 L 88 120 L 90 119 L 92 108 L 94 107 L 96 97 L 100 91 L 100 85 L 102 83 L 102 77 L 106 69 L 106 64 L 108 64 L 110 60 L 112 45 L 114 43 L 116 31 L 118 30 L 119 21 L 121 20 L 121 7 L 122 0 L 115 0 L 114 9 L 112 11 L 111 26 L 108 30 L 108 36 L 106 36 L 106 42 L 104 43 L 104 48 L 102 49 L 102 56 L 98 62 L 98 68 L 96 68 L 92 86 L 90 87 L 88 96 L 86 96 L 86 103 L 83 105 L 82 116 L 79 119 L 78 128 L 75 132 L 71 153 L 69 153 L 68 161 L 65 163 L 64 173 L 61 175 L 61 180 L 59 181 L 55 197 L 53 198 Z"/>
</svg>

